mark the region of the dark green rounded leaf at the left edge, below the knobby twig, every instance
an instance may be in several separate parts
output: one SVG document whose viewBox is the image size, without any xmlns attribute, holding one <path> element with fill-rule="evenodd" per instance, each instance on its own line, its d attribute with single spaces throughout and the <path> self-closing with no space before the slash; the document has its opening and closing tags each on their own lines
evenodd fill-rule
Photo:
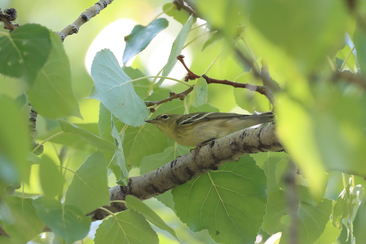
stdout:
<svg viewBox="0 0 366 244">
<path fill-rule="evenodd" d="M 1 34 L 0 73 L 23 77 L 27 83 L 33 84 L 51 51 L 49 30 L 41 25 L 26 24 L 10 34 Z"/>
</svg>

